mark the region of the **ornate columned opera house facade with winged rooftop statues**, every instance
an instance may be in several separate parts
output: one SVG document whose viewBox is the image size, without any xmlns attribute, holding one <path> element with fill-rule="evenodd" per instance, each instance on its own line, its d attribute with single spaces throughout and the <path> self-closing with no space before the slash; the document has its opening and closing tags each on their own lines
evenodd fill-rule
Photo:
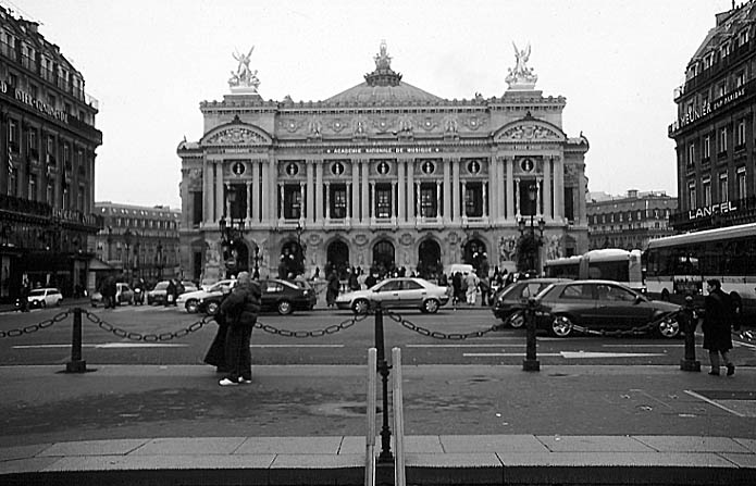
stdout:
<svg viewBox="0 0 756 486">
<path fill-rule="evenodd" d="M 185 274 L 512 271 L 520 220 L 536 236 L 544 222 L 538 266 L 586 251 L 587 139 L 562 132 L 565 98 L 516 54 L 501 97 L 445 100 L 405 83 L 384 42 L 363 83 L 295 102 L 263 101 L 237 53 L 231 94 L 200 103 L 205 135 L 177 149 Z"/>
</svg>

